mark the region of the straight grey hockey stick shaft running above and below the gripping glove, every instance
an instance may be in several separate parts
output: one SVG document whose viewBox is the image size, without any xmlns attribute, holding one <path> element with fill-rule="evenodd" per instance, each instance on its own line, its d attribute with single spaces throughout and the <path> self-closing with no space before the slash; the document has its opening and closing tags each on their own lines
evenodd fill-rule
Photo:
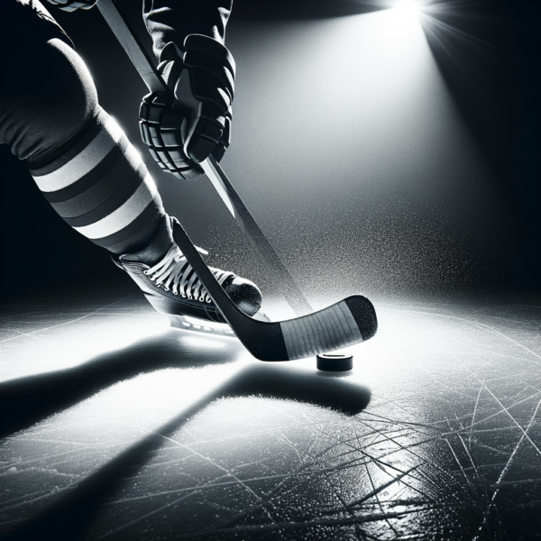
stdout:
<svg viewBox="0 0 541 541">
<path fill-rule="evenodd" d="M 133 66 L 139 74 L 146 86 L 151 92 L 166 92 L 171 93 L 146 51 L 142 47 L 141 42 L 137 39 L 129 24 L 124 20 L 123 15 L 118 10 L 115 0 L 99 0 L 97 7 L 104 16 L 106 23 L 115 33 L 116 39 L 124 48 L 126 54 L 132 60 Z M 244 205 L 243 200 L 237 194 L 233 185 L 227 179 L 224 170 L 215 160 L 214 156 L 210 155 L 206 160 L 199 164 L 205 171 L 206 177 L 212 182 L 217 194 L 222 198 L 225 206 L 233 215 L 237 225 L 246 234 L 248 240 L 260 253 L 263 261 L 273 271 L 271 273 L 274 278 L 276 289 L 280 289 L 284 298 L 293 308 L 297 316 L 302 316 L 312 312 L 312 307 L 307 301 L 307 298 L 298 289 L 297 284 L 289 274 L 285 265 L 280 260 L 279 255 L 272 248 L 271 243 L 261 231 L 261 228 L 255 220 L 248 208 Z"/>
</svg>

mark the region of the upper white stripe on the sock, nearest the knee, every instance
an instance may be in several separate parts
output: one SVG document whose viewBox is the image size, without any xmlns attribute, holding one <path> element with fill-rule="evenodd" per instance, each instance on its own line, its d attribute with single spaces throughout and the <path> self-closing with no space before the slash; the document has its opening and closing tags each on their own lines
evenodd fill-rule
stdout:
<svg viewBox="0 0 541 541">
<path fill-rule="evenodd" d="M 67 188 L 77 182 L 78 179 L 82 179 L 105 158 L 107 153 L 120 141 L 123 134 L 115 119 L 109 117 L 96 137 L 77 156 L 48 175 L 34 177 L 33 179 L 36 181 L 38 188 L 42 192 L 57 191 Z"/>
</svg>

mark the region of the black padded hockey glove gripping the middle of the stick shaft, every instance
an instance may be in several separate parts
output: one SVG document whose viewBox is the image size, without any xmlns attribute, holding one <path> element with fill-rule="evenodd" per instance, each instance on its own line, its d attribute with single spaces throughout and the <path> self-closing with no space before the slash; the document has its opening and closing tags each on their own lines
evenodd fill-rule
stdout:
<svg viewBox="0 0 541 541">
<path fill-rule="evenodd" d="M 221 160 L 231 135 L 234 59 L 219 41 L 190 34 L 184 54 L 168 43 L 160 54 L 160 74 L 174 91 L 142 98 L 139 126 L 162 170 L 179 179 L 203 173 L 197 165 L 212 153 Z"/>
</svg>

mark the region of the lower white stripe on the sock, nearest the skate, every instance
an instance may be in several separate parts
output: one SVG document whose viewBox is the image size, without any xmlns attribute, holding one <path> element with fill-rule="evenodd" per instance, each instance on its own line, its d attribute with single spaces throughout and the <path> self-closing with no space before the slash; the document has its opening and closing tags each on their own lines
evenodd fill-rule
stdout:
<svg viewBox="0 0 541 541">
<path fill-rule="evenodd" d="M 119 206 L 110 215 L 106 215 L 94 224 L 74 227 L 74 229 L 89 239 L 102 239 L 110 234 L 118 233 L 130 225 L 155 197 L 158 197 L 158 192 L 149 174 L 123 206 Z"/>
</svg>

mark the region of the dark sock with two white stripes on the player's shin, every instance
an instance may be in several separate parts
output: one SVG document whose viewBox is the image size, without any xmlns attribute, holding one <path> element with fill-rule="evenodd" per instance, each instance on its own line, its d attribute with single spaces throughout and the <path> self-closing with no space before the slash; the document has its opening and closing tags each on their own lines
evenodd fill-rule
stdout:
<svg viewBox="0 0 541 541">
<path fill-rule="evenodd" d="M 29 164 L 50 205 L 76 231 L 114 253 L 151 243 L 165 212 L 138 151 L 105 111 L 47 165 Z"/>
</svg>

